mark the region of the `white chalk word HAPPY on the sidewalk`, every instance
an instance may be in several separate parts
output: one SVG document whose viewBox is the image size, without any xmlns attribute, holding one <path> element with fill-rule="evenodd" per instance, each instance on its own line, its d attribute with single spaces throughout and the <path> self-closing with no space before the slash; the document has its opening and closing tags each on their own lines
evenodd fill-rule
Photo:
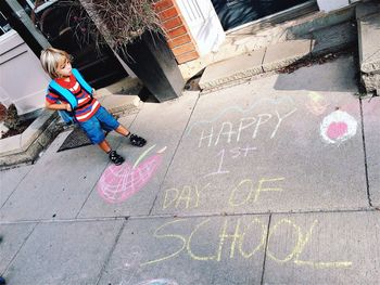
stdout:
<svg viewBox="0 0 380 285">
<path fill-rule="evenodd" d="M 283 119 L 288 118 L 295 111 L 296 108 L 293 108 L 291 112 L 284 115 L 280 115 L 277 111 L 275 112 L 277 122 L 274 130 L 271 131 L 270 139 L 274 139 L 276 137 L 276 133 L 280 128 L 280 125 L 282 124 Z M 221 139 L 224 139 L 227 143 L 231 143 L 232 141 L 239 142 L 242 133 L 246 131 L 251 131 L 251 138 L 256 139 L 261 127 L 270 121 L 273 117 L 275 116 L 273 116 L 271 114 L 259 114 L 257 115 L 257 118 L 244 117 L 240 119 L 239 127 L 237 128 L 235 128 L 232 122 L 224 121 L 221 122 L 221 127 L 219 128 L 218 132 L 214 132 L 214 128 L 213 126 L 211 126 L 210 130 L 202 130 L 198 147 L 201 147 L 203 143 L 207 147 L 212 145 L 216 146 L 218 145 Z"/>
</svg>

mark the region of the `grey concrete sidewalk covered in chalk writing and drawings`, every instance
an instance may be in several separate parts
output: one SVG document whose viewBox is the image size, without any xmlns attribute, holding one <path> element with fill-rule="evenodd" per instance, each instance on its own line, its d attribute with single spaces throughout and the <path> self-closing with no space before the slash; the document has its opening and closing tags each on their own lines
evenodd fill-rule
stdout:
<svg viewBox="0 0 380 285">
<path fill-rule="evenodd" d="M 380 100 L 350 56 L 122 122 L 149 141 L 0 172 L 9 284 L 378 284 Z"/>
</svg>

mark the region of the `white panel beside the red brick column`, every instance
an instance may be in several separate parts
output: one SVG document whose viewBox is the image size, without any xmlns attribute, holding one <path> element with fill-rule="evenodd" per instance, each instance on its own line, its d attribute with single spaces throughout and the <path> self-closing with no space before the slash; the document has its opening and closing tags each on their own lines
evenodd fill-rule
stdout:
<svg viewBox="0 0 380 285">
<path fill-rule="evenodd" d="M 211 0 L 177 0 L 200 55 L 217 51 L 226 35 Z"/>
</svg>

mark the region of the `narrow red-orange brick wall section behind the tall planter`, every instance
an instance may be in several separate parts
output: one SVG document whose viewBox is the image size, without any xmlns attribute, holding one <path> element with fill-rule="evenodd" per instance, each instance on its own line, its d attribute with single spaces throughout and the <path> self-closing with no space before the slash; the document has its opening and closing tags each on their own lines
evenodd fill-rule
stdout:
<svg viewBox="0 0 380 285">
<path fill-rule="evenodd" d="M 166 31 L 166 40 L 178 64 L 199 57 L 197 44 L 176 4 L 176 0 L 157 0 L 153 4 Z"/>
</svg>

